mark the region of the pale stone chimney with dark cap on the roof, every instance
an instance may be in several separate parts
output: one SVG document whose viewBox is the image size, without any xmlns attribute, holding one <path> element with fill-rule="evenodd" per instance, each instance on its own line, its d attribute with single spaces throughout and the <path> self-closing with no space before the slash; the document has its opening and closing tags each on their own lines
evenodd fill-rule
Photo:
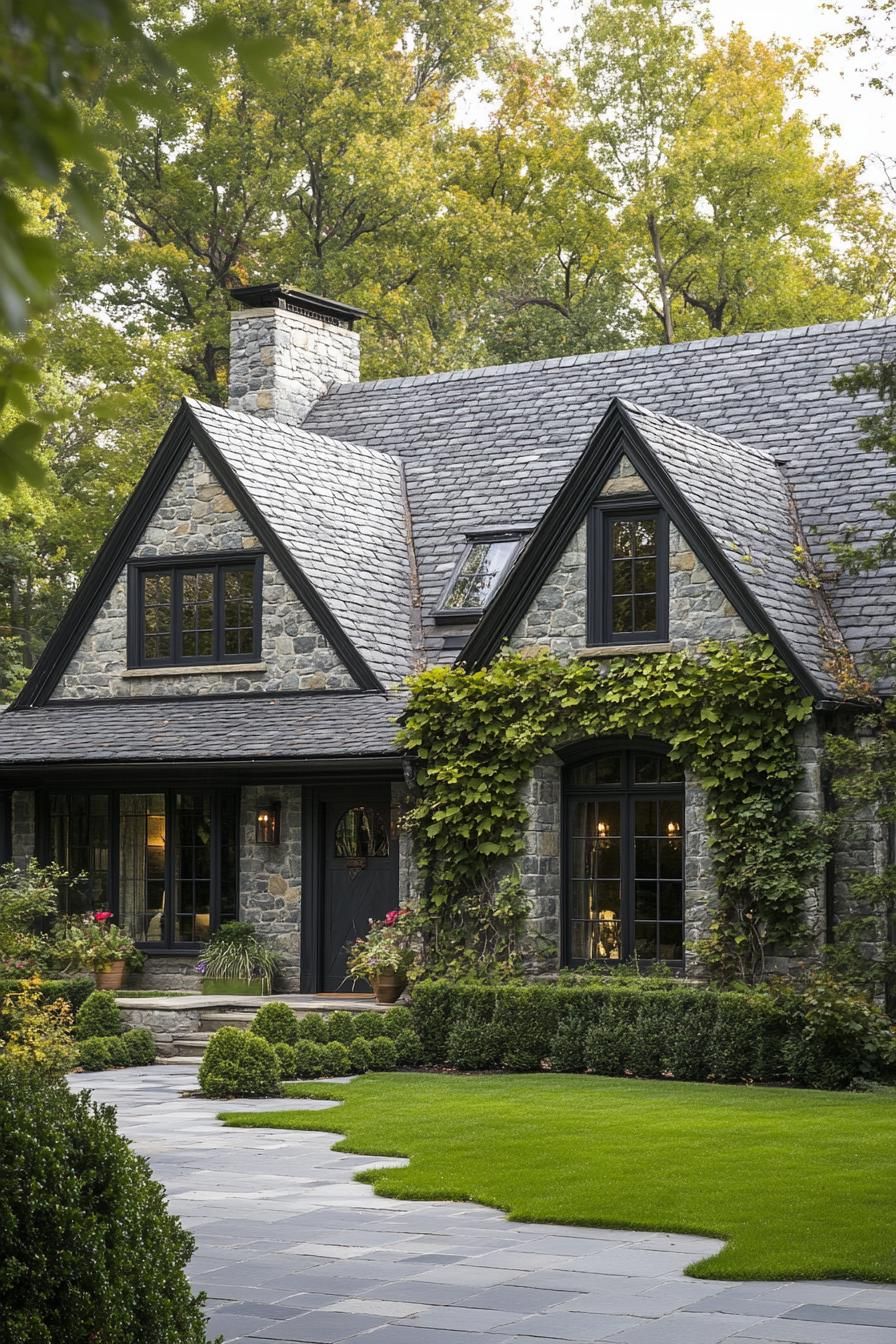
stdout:
<svg viewBox="0 0 896 1344">
<path fill-rule="evenodd" d="M 333 383 L 359 379 L 361 308 L 281 285 L 232 289 L 231 410 L 300 425 Z"/>
</svg>

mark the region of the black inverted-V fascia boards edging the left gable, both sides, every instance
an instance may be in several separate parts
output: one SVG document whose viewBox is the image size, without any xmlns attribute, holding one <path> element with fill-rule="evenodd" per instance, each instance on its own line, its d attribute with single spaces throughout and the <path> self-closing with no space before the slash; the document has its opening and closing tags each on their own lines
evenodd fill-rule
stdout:
<svg viewBox="0 0 896 1344">
<path fill-rule="evenodd" d="M 364 691 L 384 691 L 367 661 L 351 642 L 341 625 L 309 582 L 294 556 L 287 551 L 274 530 L 258 509 L 255 501 L 231 470 L 215 442 L 181 401 L 175 418 L 156 449 L 133 495 L 118 515 L 109 536 L 99 547 L 97 558 L 73 597 L 62 621 L 50 637 L 28 680 L 7 712 L 36 708 L 46 704 L 71 661 L 81 641 L 109 595 L 116 579 L 132 558 L 137 539 L 146 530 L 159 504 L 165 497 L 189 449 L 196 445 L 208 461 L 227 493 L 240 509 L 246 521 L 262 542 L 281 573 L 296 589 L 312 618 L 343 659 L 343 663 Z"/>
</svg>

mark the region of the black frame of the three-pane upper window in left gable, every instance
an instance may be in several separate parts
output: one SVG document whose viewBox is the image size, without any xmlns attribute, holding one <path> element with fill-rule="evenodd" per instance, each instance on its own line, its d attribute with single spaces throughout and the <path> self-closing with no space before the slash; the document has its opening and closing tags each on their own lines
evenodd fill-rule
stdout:
<svg viewBox="0 0 896 1344">
<path fill-rule="evenodd" d="M 246 551 L 197 551 L 192 555 L 160 555 L 146 559 L 133 559 L 128 564 L 128 668 L 181 668 L 216 667 L 224 663 L 257 663 L 261 657 L 262 634 L 262 582 L 265 573 L 265 552 Z M 223 650 L 223 573 L 230 569 L 253 570 L 253 652 L 224 653 Z M 172 573 L 172 626 L 171 657 L 148 659 L 144 653 L 144 574 L 153 571 Z M 183 575 L 200 570 L 211 570 L 215 575 L 214 593 L 214 652 L 201 657 L 181 657 L 180 634 L 183 622 Z"/>
</svg>

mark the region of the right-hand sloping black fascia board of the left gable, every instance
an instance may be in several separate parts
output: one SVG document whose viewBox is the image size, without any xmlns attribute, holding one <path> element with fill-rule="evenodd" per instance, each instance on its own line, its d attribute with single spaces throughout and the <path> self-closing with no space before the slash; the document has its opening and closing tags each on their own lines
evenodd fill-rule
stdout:
<svg viewBox="0 0 896 1344">
<path fill-rule="evenodd" d="M 386 691 L 380 679 L 355 648 L 321 594 L 305 575 L 305 571 L 300 566 L 296 556 L 281 542 L 274 528 L 255 504 L 255 500 L 236 476 L 230 462 L 224 458 L 214 438 L 211 438 L 206 427 L 193 415 L 185 402 L 184 410 L 189 418 L 192 435 L 199 452 L 206 458 L 212 472 L 224 487 L 224 491 L 232 499 L 234 504 L 236 504 L 236 508 L 240 511 L 246 521 L 251 526 L 265 551 L 270 555 L 287 583 L 293 587 L 296 595 L 308 610 L 308 614 L 316 625 L 320 626 L 321 632 L 326 636 L 328 642 L 333 645 L 340 659 L 357 681 L 359 688 L 361 691 Z"/>
</svg>

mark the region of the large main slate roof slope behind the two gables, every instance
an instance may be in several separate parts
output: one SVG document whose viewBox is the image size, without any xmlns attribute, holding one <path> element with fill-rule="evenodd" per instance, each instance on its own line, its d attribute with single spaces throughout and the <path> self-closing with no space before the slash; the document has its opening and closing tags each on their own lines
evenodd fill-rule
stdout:
<svg viewBox="0 0 896 1344">
<path fill-rule="evenodd" d="M 779 461 L 817 552 L 848 526 L 880 526 L 875 501 L 896 489 L 896 472 L 856 446 L 856 417 L 876 403 L 853 403 L 830 383 L 858 363 L 895 353 L 896 319 L 876 319 L 575 355 L 343 384 L 312 407 L 305 427 L 404 462 L 424 633 L 438 656 L 442 632 L 427 617 L 459 558 L 465 528 L 537 521 L 613 396 Z M 685 456 L 681 465 L 696 464 Z M 727 457 L 725 470 L 731 466 Z M 684 478 L 677 484 L 686 487 Z M 896 636 L 895 578 L 837 586 L 834 610 L 856 650 Z M 782 589 L 779 606 L 790 598 Z M 803 599 L 793 601 L 799 607 Z"/>
</svg>

